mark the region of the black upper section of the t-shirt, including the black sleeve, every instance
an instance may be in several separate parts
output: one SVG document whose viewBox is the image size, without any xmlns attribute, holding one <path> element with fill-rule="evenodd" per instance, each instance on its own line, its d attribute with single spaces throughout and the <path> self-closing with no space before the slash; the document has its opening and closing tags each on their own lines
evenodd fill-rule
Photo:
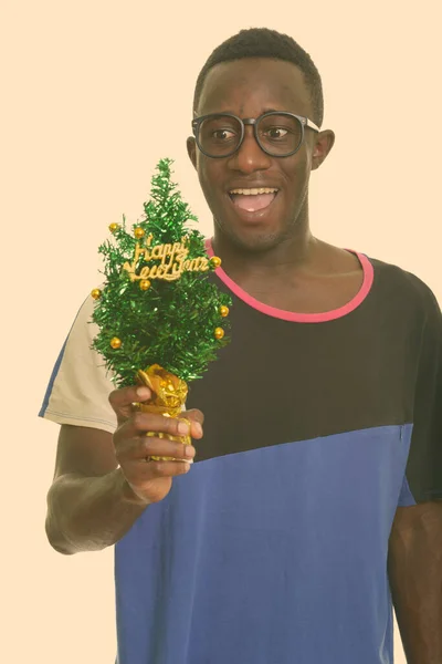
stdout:
<svg viewBox="0 0 442 664">
<path fill-rule="evenodd" d="M 188 407 L 206 416 L 198 460 L 338 433 L 412 424 L 408 480 L 414 497 L 442 488 L 441 313 L 430 289 L 370 259 L 373 282 L 338 319 L 277 319 L 230 292 L 231 342 Z"/>
</svg>

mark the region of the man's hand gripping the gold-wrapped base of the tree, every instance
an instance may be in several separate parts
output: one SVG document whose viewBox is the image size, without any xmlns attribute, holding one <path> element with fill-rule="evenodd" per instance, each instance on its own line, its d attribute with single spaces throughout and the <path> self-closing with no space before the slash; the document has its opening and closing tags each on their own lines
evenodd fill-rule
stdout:
<svg viewBox="0 0 442 664">
<path fill-rule="evenodd" d="M 109 395 L 118 428 L 114 434 L 115 454 L 122 473 L 127 481 L 125 498 L 138 505 L 149 505 L 162 500 L 172 485 L 172 477 L 185 475 L 190 470 L 196 449 L 192 445 L 183 445 L 146 436 L 147 432 L 165 433 L 172 436 L 189 435 L 202 438 L 203 414 L 201 411 L 187 411 L 182 416 L 190 421 L 189 425 L 179 418 L 135 412 L 133 404 L 145 402 L 151 397 L 148 387 L 124 387 Z M 169 456 L 177 461 L 147 460 L 149 456 Z"/>
</svg>

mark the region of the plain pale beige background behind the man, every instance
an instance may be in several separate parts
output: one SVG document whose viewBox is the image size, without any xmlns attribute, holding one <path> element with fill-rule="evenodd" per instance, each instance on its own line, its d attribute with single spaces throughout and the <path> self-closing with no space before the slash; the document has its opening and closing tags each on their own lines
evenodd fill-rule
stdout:
<svg viewBox="0 0 442 664">
<path fill-rule="evenodd" d="M 113 551 L 64 558 L 46 543 L 57 426 L 36 418 L 99 280 L 97 246 L 123 212 L 139 217 L 160 157 L 176 160 L 210 234 L 185 146 L 193 84 L 222 40 L 266 25 L 311 53 L 323 126 L 336 132 L 312 175 L 314 234 L 402 266 L 442 301 L 440 2 L 41 0 L 1 11 L 2 660 L 110 664 Z M 398 639 L 396 652 L 404 662 Z"/>
</svg>

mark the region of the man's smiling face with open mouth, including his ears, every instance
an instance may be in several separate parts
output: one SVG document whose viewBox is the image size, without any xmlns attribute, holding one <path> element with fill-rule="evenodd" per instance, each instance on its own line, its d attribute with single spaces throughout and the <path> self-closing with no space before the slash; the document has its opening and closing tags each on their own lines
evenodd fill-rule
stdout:
<svg viewBox="0 0 442 664">
<path fill-rule="evenodd" d="M 312 120 L 309 93 L 302 72 L 292 63 L 269 59 L 244 59 L 218 64 L 208 74 L 197 115 L 233 113 L 259 117 L 267 111 L 287 111 Z M 305 131 L 296 154 L 273 157 L 257 145 L 253 127 L 245 126 L 240 149 L 230 157 L 211 158 L 188 139 L 188 152 L 213 214 L 218 231 L 249 251 L 271 249 L 296 235 L 307 210 L 312 169 L 327 156 L 333 132 Z M 276 195 L 231 195 L 233 189 L 277 189 Z M 246 200 L 245 200 L 246 199 Z M 249 211 L 245 208 L 265 207 Z"/>
</svg>

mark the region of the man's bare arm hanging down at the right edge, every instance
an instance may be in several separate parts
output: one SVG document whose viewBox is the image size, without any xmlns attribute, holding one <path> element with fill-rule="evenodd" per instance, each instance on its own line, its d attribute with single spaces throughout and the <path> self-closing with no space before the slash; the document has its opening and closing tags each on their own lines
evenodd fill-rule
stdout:
<svg viewBox="0 0 442 664">
<path fill-rule="evenodd" d="M 442 664 L 442 502 L 398 508 L 388 573 L 408 664 Z"/>
</svg>

